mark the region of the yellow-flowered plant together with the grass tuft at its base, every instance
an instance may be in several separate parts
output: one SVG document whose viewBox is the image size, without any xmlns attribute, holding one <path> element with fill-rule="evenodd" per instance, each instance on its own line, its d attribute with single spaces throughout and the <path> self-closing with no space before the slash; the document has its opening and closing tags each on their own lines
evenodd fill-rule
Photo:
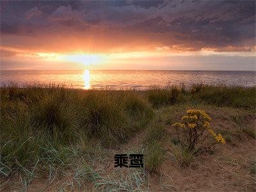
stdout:
<svg viewBox="0 0 256 192">
<path fill-rule="evenodd" d="M 216 134 L 210 127 L 212 118 L 199 109 L 187 110 L 182 116 L 182 123 L 173 123 L 177 135 L 172 139 L 171 156 L 181 165 L 189 166 L 195 156 L 204 148 L 211 150 L 212 145 L 205 146 L 209 134 L 219 143 L 225 144 L 221 134 Z"/>
</svg>

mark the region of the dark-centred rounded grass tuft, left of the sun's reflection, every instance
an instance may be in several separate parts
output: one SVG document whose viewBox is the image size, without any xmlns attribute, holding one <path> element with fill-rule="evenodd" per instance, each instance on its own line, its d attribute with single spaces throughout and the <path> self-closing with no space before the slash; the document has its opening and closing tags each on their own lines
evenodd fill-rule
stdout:
<svg viewBox="0 0 256 192">
<path fill-rule="evenodd" d="M 76 139 L 79 126 L 76 106 L 72 100 L 61 98 L 60 93 L 45 95 L 38 104 L 31 106 L 29 113 L 32 116 L 31 126 L 49 134 L 52 140 L 67 144 Z"/>
</svg>

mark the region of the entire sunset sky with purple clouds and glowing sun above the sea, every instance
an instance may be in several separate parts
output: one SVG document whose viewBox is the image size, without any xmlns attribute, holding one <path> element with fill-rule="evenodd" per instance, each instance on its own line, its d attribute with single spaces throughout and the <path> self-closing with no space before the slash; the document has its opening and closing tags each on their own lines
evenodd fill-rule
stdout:
<svg viewBox="0 0 256 192">
<path fill-rule="evenodd" d="M 1 1 L 1 70 L 256 70 L 255 1 Z"/>
</svg>

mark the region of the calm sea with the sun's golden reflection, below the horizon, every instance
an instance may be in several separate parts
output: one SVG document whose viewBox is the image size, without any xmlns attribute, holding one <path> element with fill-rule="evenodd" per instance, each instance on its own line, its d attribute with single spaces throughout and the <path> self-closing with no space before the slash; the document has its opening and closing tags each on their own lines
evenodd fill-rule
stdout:
<svg viewBox="0 0 256 192">
<path fill-rule="evenodd" d="M 2 70 L 1 86 L 11 81 L 20 86 L 33 83 L 65 84 L 71 88 L 136 88 L 170 84 L 227 84 L 255 86 L 256 72 L 179 70 Z"/>
</svg>

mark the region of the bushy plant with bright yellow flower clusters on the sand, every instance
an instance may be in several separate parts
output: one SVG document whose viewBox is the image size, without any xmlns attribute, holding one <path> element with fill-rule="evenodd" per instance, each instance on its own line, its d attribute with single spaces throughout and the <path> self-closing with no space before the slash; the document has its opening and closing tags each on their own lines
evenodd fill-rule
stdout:
<svg viewBox="0 0 256 192">
<path fill-rule="evenodd" d="M 225 143 L 225 140 L 221 134 L 216 134 L 210 128 L 210 121 L 212 120 L 205 111 L 198 109 L 190 109 L 187 111 L 187 115 L 182 116 L 181 123 L 174 123 L 172 127 L 176 128 L 179 133 L 179 129 L 186 137 L 189 150 L 193 150 L 196 146 L 204 143 L 207 134 L 203 136 L 205 131 L 208 131 L 216 141 L 219 143 Z"/>
</svg>

